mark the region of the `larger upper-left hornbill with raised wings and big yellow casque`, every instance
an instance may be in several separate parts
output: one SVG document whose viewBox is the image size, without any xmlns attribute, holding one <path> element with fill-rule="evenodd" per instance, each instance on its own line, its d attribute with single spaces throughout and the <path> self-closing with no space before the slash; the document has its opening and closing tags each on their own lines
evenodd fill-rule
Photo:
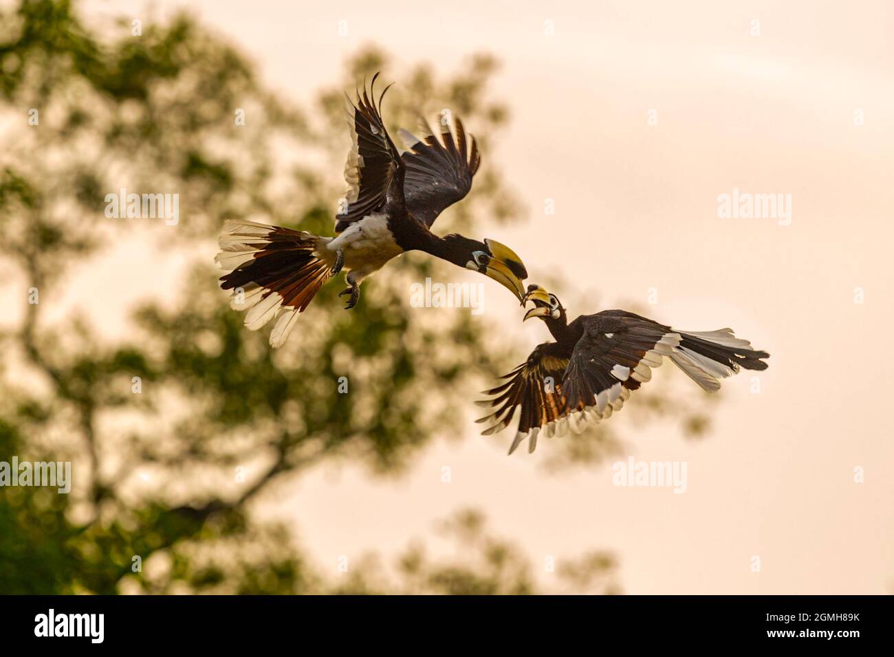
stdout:
<svg viewBox="0 0 894 657">
<path fill-rule="evenodd" d="M 417 139 L 401 130 L 409 151 L 401 153 L 385 130 L 375 100 L 375 74 L 367 94 L 348 98 L 353 146 L 345 164 L 350 185 L 335 223 L 336 237 L 249 221 L 228 221 L 215 260 L 229 271 L 220 279 L 233 290 L 231 306 L 249 309 L 245 324 L 255 330 L 275 316 L 279 320 L 270 344 L 279 347 L 325 282 L 342 270 L 348 287 L 346 308 L 360 298 L 360 281 L 405 251 L 425 251 L 435 257 L 485 274 L 521 300 L 527 271 L 521 259 L 494 240 L 470 240 L 460 234 L 440 237 L 431 226 L 444 208 L 468 194 L 481 163 L 475 138 L 455 121 L 455 134 L 443 122 L 441 139 L 434 131 Z M 390 85 L 389 85 L 390 87 Z"/>
</svg>

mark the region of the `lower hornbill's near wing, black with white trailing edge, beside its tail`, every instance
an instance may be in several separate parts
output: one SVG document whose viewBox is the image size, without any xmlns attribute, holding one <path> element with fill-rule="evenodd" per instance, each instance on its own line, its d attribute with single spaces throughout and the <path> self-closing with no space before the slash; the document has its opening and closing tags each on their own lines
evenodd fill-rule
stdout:
<svg viewBox="0 0 894 657">
<path fill-rule="evenodd" d="M 570 417 L 604 419 L 620 410 L 641 383 L 652 379 L 652 368 L 678 347 L 679 333 L 622 310 L 607 310 L 580 318 L 584 333 L 569 358 L 562 378 Z"/>
</svg>

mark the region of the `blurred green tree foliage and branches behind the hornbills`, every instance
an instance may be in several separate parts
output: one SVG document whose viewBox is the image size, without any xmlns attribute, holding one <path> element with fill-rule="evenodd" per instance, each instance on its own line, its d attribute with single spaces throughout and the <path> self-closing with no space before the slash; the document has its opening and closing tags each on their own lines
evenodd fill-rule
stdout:
<svg viewBox="0 0 894 657">
<path fill-rule="evenodd" d="M 485 94 L 494 66 L 482 55 L 448 80 L 426 66 L 391 76 L 401 85 L 389 94 L 390 128 L 454 108 L 487 153 L 507 115 Z M 407 312 L 400 291 L 436 275 L 433 259 L 389 265 L 350 313 L 338 286 L 325 288 L 277 352 L 242 326 L 198 258 L 184 290 L 139 309 L 130 342 L 106 343 L 77 313 L 46 316 L 76 267 L 122 243 L 148 240 L 159 254 L 173 235 L 179 248 L 208 245 L 230 217 L 330 231 L 344 186 L 342 88 L 387 68 L 367 49 L 305 112 L 185 14 L 90 29 L 67 0 L 0 11 L 0 254 L 24 308 L 0 335 L 0 459 L 69 460 L 76 473 L 69 495 L 0 488 L 0 592 L 538 590 L 523 552 L 486 535 L 474 512 L 451 525 L 466 558 L 430 560 L 411 548 L 396 579 L 370 566 L 338 585 L 283 526 L 249 512 L 268 484 L 325 460 L 400 472 L 435 435 L 467 429 L 456 409 L 469 407 L 482 375 L 527 353 L 485 344 L 468 314 L 435 322 Z M 122 188 L 179 194 L 181 222 L 105 216 L 105 195 Z M 439 223 L 466 230 L 476 216 L 510 219 L 519 211 L 511 198 L 485 162 L 469 198 Z M 38 303 L 25 302 L 26 291 Z M 104 299 L 90 300 L 101 315 Z M 350 394 L 338 392 L 340 376 Z M 597 462 L 615 442 L 604 429 L 588 435 L 564 443 L 570 461 Z M 595 553 L 558 566 L 557 581 L 611 593 L 613 568 L 611 555 Z"/>
</svg>

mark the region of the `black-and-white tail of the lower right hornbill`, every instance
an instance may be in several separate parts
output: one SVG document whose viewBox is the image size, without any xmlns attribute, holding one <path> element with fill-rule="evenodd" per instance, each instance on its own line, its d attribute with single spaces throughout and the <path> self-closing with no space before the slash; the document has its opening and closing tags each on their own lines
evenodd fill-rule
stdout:
<svg viewBox="0 0 894 657">
<path fill-rule="evenodd" d="M 738 373 L 741 367 L 767 368 L 763 358 L 770 358 L 770 354 L 752 349 L 751 342 L 737 338 L 732 329 L 677 333 L 681 340 L 671 360 L 708 392 L 719 390 L 720 380 Z"/>
</svg>

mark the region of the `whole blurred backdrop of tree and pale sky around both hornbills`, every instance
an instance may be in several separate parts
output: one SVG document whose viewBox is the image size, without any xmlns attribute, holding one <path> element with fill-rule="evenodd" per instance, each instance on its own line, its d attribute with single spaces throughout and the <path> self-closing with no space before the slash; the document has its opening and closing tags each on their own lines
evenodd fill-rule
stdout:
<svg viewBox="0 0 894 657">
<path fill-rule="evenodd" d="M 0 460 L 74 468 L 69 495 L 0 488 L 0 592 L 894 587 L 890 4 L 0 8 Z M 472 400 L 544 326 L 489 281 L 480 316 L 410 307 L 481 282 L 420 254 L 269 350 L 215 235 L 331 230 L 342 92 L 379 70 L 392 131 L 451 109 L 481 142 L 436 231 L 509 244 L 572 314 L 729 325 L 770 368 L 708 396 L 662 367 L 508 458 Z M 122 187 L 180 194 L 180 223 L 106 218 Z M 734 189 L 791 223 L 720 218 Z M 613 485 L 628 456 L 685 461 L 687 492 Z"/>
</svg>

